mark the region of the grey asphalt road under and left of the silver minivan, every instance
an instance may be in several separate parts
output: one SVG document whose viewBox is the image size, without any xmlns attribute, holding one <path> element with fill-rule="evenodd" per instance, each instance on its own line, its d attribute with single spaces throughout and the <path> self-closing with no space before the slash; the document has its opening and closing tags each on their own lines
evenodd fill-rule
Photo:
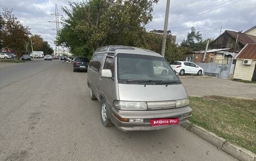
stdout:
<svg viewBox="0 0 256 161">
<path fill-rule="evenodd" d="M 236 160 L 181 126 L 122 132 L 100 122 L 71 63 L 0 63 L 0 160 Z"/>
</svg>

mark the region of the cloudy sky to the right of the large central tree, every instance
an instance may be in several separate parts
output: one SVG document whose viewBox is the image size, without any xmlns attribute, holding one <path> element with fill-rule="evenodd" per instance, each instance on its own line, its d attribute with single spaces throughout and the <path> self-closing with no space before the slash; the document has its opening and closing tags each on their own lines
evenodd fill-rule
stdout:
<svg viewBox="0 0 256 161">
<path fill-rule="evenodd" d="M 245 31 L 256 25 L 255 0 L 237 1 L 171 1 L 168 30 L 177 36 L 177 42 L 186 38 L 191 26 L 200 31 L 204 39 L 217 38 L 225 30 Z M 166 1 L 160 1 L 153 11 L 148 29 L 163 30 Z"/>
</svg>

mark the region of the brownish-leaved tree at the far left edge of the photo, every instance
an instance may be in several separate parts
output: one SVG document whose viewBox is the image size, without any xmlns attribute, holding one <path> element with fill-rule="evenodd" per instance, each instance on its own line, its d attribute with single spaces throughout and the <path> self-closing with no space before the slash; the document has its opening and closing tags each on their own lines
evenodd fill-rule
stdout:
<svg viewBox="0 0 256 161">
<path fill-rule="evenodd" d="M 26 42 L 29 40 L 30 29 L 23 26 L 12 10 L 7 8 L 2 12 L 4 25 L 2 27 L 2 42 L 4 48 L 12 48 L 19 58 L 25 51 Z"/>
</svg>

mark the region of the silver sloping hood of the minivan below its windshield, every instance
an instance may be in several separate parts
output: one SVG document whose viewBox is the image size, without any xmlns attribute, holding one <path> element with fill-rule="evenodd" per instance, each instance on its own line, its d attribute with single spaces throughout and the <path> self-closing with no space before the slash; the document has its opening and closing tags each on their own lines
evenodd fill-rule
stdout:
<svg viewBox="0 0 256 161">
<path fill-rule="evenodd" d="M 120 100 L 127 101 L 164 101 L 188 98 L 182 84 L 172 85 L 141 85 L 118 84 Z"/>
</svg>

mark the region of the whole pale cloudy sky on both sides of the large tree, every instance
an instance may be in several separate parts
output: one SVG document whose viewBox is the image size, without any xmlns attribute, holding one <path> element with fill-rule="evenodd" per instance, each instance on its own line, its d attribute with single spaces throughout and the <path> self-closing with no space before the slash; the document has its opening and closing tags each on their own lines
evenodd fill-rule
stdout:
<svg viewBox="0 0 256 161">
<path fill-rule="evenodd" d="M 61 7 L 79 0 L 0 0 L 0 8 L 13 9 L 13 14 L 32 34 L 38 34 L 55 49 L 56 6 L 58 13 L 67 17 Z M 176 35 L 176 43 L 186 39 L 192 26 L 203 39 L 216 39 L 225 30 L 246 31 L 256 26 L 256 0 L 170 0 L 168 30 Z M 1 10 L 2 12 L 2 10 Z M 145 25 L 148 31 L 163 30 L 166 0 L 154 5 L 153 20 Z M 61 17 L 61 16 L 60 16 Z M 60 24 L 61 28 L 61 24 Z"/>
</svg>

